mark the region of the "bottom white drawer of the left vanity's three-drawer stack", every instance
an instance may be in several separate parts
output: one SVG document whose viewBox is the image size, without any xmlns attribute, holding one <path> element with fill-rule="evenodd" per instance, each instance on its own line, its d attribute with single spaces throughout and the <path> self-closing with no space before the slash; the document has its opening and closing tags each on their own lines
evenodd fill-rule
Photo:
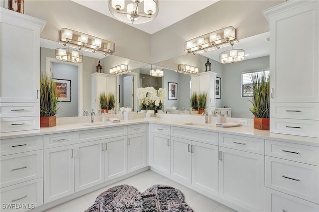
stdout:
<svg viewBox="0 0 319 212">
<path fill-rule="evenodd" d="M 3 209 L 1 205 L 1 212 L 24 212 L 43 205 L 43 178 L 2 188 L 0 196 L 1 204 L 16 204 L 16 206 L 25 204 L 26 206 L 26 209 L 9 210 Z"/>
</svg>

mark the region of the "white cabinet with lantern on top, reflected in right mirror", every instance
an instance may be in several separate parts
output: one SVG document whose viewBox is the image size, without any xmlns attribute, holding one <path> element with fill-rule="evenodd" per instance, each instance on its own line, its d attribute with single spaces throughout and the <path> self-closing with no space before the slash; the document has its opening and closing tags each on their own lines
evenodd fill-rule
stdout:
<svg viewBox="0 0 319 212">
<path fill-rule="evenodd" d="M 215 109 L 215 84 L 217 73 L 201 72 L 191 76 L 191 92 L 207 92 L 206 109 L 209 114 L 212 114 Z"/>
</svg>

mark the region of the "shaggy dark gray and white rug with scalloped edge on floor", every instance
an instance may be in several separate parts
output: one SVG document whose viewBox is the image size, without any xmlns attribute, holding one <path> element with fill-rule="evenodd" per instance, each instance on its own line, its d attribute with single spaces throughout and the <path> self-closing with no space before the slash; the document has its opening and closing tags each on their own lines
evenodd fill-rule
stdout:
<svg viewBox="0 0 319 212">
<path fill-rule="evenodd" d="M 85 212 L 193 212 L 184 195 L 169 186 L 154 185 L 139 192 L 129 185 L 115 186 L 100 194 Z"/>
</svg>

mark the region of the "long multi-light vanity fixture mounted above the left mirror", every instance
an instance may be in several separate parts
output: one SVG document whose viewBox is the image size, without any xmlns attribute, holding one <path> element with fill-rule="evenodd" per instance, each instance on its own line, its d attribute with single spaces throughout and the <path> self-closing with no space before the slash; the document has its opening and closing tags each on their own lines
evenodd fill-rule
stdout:
<svg viewBox="0 0 319 212">
<path fill-rule="evenodd" d="M 72 29 L 60 30 L 60 41 L 64 46 L 84 50 L 102 55 L 109 55 L 115 51 L 115 43 L 92 35 L 77 32 Z"/>
</svg>

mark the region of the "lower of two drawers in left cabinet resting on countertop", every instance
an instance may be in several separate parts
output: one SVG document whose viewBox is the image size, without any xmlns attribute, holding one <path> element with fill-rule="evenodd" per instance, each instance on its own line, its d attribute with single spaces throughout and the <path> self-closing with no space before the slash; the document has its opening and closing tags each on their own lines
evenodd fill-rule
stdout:
<svg viewBox="0 0 319 212">
<path fill-rule="evenodd" d="M 1 132 L 40 129 L 40 116 L 0 118 Z"/>
</svg>

